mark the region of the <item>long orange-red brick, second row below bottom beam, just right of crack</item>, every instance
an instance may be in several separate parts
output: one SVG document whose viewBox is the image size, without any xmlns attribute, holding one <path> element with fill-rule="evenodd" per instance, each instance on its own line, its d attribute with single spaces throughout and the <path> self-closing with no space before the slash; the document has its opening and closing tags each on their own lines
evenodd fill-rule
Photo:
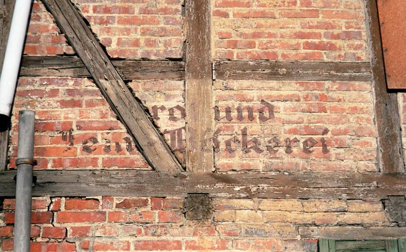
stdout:
<svg viewBox="0 0 406 252">
<path fill-rule="evenodd" d="M 106 212 L 94 211 L 79 211 L 68 212 L 62 211 L 56 213 L 56 221 L 58 223 L 76 223 L 76 222 L 104 222 L 106 221 Z"/>
</svg>

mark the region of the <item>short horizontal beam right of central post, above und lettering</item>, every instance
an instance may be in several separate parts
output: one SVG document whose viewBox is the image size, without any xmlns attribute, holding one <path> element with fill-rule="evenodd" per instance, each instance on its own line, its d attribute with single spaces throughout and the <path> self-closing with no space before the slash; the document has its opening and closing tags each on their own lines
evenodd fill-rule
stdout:
<svg viewBox="0 0 406 252">
<path fill-rule="evenodd" d="M 371 81 L 369 62 L 217 61 L 214 79 L 268 81 Z"/>
</svg>

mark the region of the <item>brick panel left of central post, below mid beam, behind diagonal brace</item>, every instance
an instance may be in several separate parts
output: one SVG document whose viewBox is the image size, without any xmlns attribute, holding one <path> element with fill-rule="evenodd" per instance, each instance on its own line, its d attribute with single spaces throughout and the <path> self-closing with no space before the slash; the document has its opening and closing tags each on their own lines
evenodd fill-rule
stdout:
<svg viewBox="0 0 406 252">
<path fill-rule="evenodd" d="M 133 81 L 128 86 L 184 161 L 184 81 Z M 99 89 L 85 78 L 19 79 L 10 132 L 10 168 L 15 168 L 18 112 L 23 109 L 36 111 L 37 169 L 150 169 Z M 171 139 L 171 132 L 178 130 L 180 144 L 178 135 Z"/>
</svg>

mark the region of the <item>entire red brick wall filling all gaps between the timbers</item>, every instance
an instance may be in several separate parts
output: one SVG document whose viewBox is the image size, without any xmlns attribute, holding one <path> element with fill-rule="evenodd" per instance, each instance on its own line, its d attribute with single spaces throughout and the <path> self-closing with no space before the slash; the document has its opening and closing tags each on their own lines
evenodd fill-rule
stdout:
<svg viewBox="0 0 406 252">
<path fill-rule="evenodd" d="M 183 57 L 183 1 L 73 2 L 112 58 Z M 212 0 L 211 8 L 214 59 L 369 60 L 361 0 Z M 38 0 L 25 54 L 74 54 Z M 184 161 L 185 82 L 127 84 Z M 377 171 L 371 86 L 369 81 L 214 81 L 215 169 Z M 403 96 L 398 97 L 404 127 Z M 90 79 L 54 77 L 19 80 L 11 169 L 22 109 L 36 111 L 36 169 L 150 169 Z M 34 198 L 31 250 L 315 252 L 317 240 L 305 238 L 304 230 L 395 225 L 381 201 L 213 199 L 214 212 L 206 221 L 186 220 L 183 201 L 97 195 Z M 13 204 L 13 199 L 0 198 L 0 251 L 12 250 Z"/>
</svg>

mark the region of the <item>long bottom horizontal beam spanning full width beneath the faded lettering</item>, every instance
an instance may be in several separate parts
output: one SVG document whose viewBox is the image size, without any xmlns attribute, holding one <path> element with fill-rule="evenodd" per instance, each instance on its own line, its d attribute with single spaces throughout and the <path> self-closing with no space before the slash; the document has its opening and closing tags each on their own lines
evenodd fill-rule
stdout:
<svg viewBox="0 0 406 252">
<path fill-rule="evenodd" d="M 0 172 L 0 196 L 14 196 L 15 171 Z M 385 199 L 406 195 L 406 174 L 304 172 L 165 173 L 138 170 L 36 170 L 33 196 Z"/>
</svg>

